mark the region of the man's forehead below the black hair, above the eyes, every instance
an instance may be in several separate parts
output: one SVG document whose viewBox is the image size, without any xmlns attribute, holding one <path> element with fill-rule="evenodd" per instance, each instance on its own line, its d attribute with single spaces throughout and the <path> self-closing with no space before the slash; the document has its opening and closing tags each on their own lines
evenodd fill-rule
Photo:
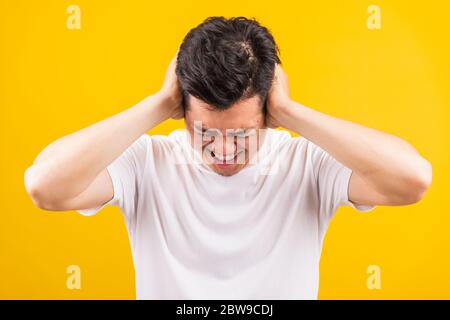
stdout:
<svg viewBox="0 0 450 320">
<path fill-rule="evenodd" d="M 255 95 L 240 100 L 226 110 L 213 109 L 204 101 L 189 95 L 189 108 L 186 112 L 187 125 L 200 121 L 204 128 L 233 129 L 261 128 L 264 116 L 260 98 Z"/>
</svg>

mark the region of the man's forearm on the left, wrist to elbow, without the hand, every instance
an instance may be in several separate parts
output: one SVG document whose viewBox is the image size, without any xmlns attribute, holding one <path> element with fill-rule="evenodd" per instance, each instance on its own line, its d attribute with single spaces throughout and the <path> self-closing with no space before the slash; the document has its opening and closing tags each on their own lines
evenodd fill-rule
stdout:
<svg viewBox="0 0 450 320">
<path fill-rule="evenodd" d="M 27 187 L 52 199 L 77 196 L 139 136 L 164 121 L 166 101 L 152 95 L 135 106 L 48 145 L 25 174 Z"/>
</svg>

